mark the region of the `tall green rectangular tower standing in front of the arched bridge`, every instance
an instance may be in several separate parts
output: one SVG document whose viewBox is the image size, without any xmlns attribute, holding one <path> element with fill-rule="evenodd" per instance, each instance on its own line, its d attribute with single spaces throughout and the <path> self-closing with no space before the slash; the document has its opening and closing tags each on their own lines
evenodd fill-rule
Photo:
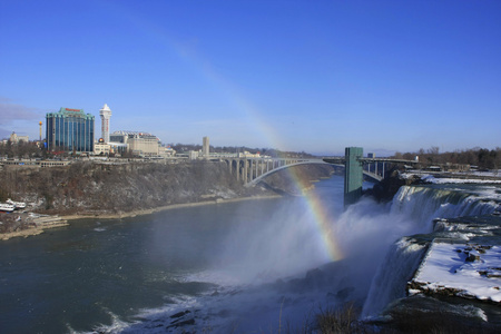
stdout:
<svg viewBox="0 0 501 334">
<path fill-rule="evenodd" d="M 364 155 L 362 147 L 345 148 L 344 169 L 344 206 L 356 203 L 362 197 L 363 163 L 360 160 Z"/>
</svg>

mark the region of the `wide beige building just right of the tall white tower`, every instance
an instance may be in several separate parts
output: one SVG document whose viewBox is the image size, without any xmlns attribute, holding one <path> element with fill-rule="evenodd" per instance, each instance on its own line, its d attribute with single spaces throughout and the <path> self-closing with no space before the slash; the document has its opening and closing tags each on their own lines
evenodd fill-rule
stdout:
<svg viewBox="0 0 501 334">
<path fill-rule="evenodd" d="M 110 136 L 109 145 L 111 148 L 126 147 L 131 150 L 135 155 L 140 156 L 158 156 L 160 140 L 147 132 L 136 132 L 136 131 L 115 131 Z"/>
</svg>

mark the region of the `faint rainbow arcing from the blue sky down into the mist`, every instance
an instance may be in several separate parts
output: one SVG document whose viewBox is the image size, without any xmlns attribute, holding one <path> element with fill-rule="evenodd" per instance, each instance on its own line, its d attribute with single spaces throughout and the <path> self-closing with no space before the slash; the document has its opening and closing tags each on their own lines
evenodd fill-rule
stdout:
<svg viewBox="0 0 501 334">
<path fill-rule="evenodd" d="M 108 2 L 108 6 L 118 7 L 117 3 L 112 4 L 110 2 Z M 175 41 L 158 26 L 154 26 L 153 23 L 138 18 L 136 13 L 127 11 L 125 8 L 116 9 L 120 10 L 122 17 L 128 18 L 132 24 L 143 30 L 146 35 L 148 35 L 148 37 L 163 43 L 164 47 L 167 47 L 167 49 L 173 50 L 181 61 L 191 67 L 213 87 L 217 88 L 222 95 L 235 106 L 236 110 L 238 110 L 240 115 L 246 118 L 245 124 L 254 128 L 256 136 L 265 138 L 265 141 L 269 147 L 287 150 L 287 147 L 283 143 L 282 138 L 277 136 L 277 131 L 269 125 L 269 121 L 266 121 L 258 108 L 253 106 L 253 104 L 244 97 L 244 94 L 237 88 L 236 85 L 218 73 L 210 66 L 210 62 L 207 59 L 203 59 L 203 57 L 193 48 L 189 48 L 189 46 Z M 328 210 L 325 209 L 322 199 L 315 194 L 315 191 L 303 191 L 303 189 L 306 188 L 306 184 L 297 175 L 295 168 L 286 168 L 285 170 L 289 174 L 298 194 L 303 193 L 302 198 L 305 200 L 308 209 L 307 214 L 311 217 L 307 222 L 314 222 L 312 224 L 316 225 L 318 238 L 322 240 L 326 255 L 332 261 L 342 259 L 343 253 L 338 247 L 338 243 L 335 239 L 335 234 L 332 228 L 334 219 L 330 215 Z"/>
</svg>

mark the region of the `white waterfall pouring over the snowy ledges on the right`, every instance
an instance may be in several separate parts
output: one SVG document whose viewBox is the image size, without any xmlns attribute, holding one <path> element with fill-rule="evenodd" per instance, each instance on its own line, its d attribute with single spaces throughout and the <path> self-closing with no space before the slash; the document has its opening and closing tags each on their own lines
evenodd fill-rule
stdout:
<svg viewBox="0 0 501 334">
<path fill-rule="evenodd" d="M 395 222 L 395 228 L 412 226 L 402 229 L 404 233 L 432 233 L 434 218 L 488 215 L 498 210 L 500 203 L 495 187 L 403 186 L 393 198 L 387 219 Z M 426 248 L 425 243 L 412 237 L 402 237 L 390 246 L 371 283 L 363 318 L 379 315 L 390 303 L 405 296 L 406 283 Z"/>
</svg>

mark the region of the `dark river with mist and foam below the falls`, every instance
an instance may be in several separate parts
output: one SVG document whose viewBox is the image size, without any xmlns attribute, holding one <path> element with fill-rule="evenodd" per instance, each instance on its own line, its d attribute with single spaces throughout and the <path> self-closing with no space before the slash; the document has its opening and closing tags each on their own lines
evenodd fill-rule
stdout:
<svg viewBox="0 0 501 334">
<path fill-rule="evenodd" d="M 334 176 L 303 197 L 75 220 L 6 240 L 0 332 L 310 328 L 328 307 L 362 307 L 389 245 L 431 230 L 430 217 L 391 204 L 343 212 L 342 196 Z"/>
</svg>

